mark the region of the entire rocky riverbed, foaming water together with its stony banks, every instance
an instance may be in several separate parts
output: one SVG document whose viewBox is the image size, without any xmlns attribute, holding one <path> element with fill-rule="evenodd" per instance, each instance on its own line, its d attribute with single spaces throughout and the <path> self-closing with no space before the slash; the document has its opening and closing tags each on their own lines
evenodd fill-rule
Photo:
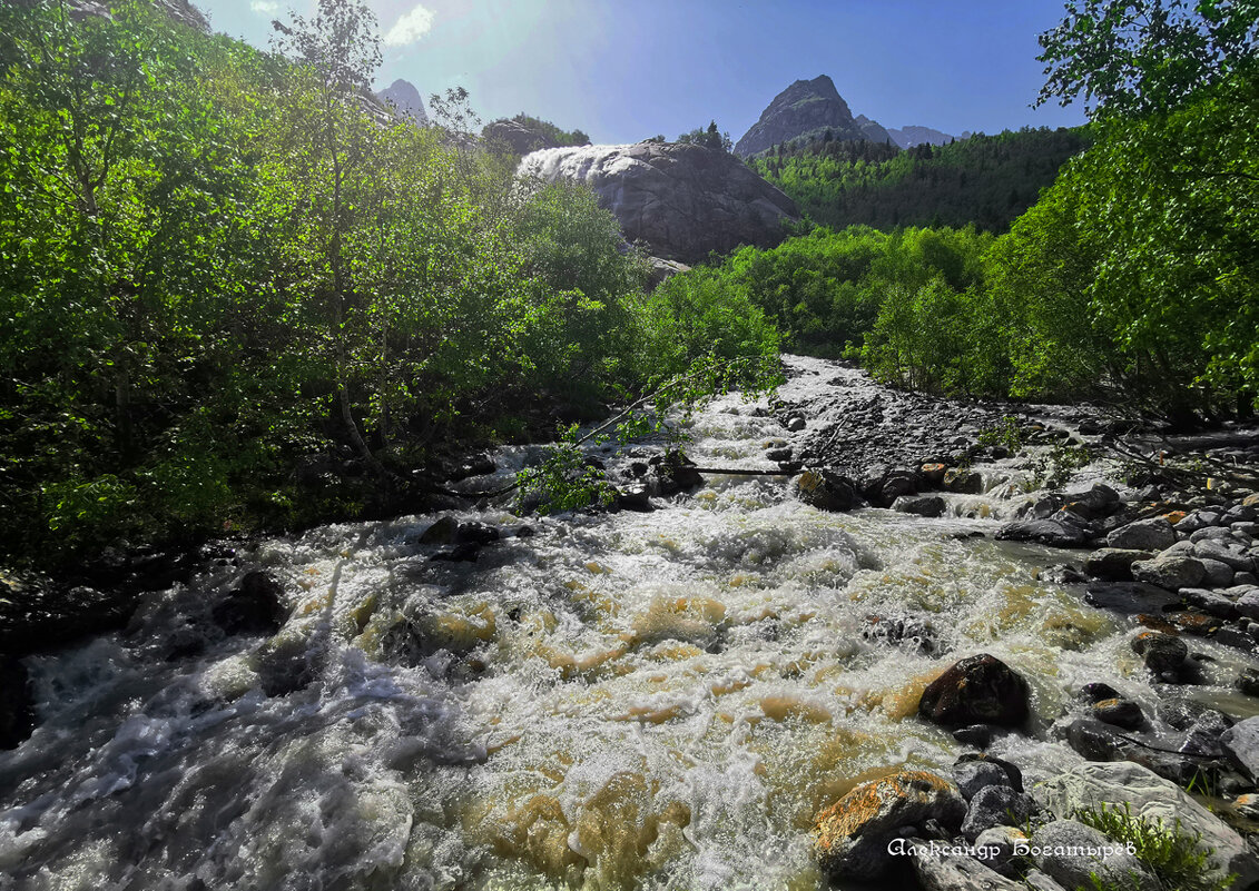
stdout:
<svg viewBox="0 0 1259 891">
<path fill-rule="evenodd" d="M 787 362 L 618 510 L 11 581 L 0 887 L 1170 888 L 1102 802 L 1259 878 L 1254 440 Z"/>
</svg>

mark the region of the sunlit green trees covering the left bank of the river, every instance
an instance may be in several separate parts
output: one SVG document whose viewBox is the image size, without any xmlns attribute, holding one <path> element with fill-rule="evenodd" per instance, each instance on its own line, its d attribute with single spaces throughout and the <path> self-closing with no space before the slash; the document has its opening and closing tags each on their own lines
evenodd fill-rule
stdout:
<svg viewBox="0 0 1259 891">
<path fill-rule="evenodd" d="M 0 8 L 6 560 L 397 510 L 452 439 L 777 352 L 645 296 L 589 190 L 380 123 L 365 6 L 278 38 Z"/>
</svg>

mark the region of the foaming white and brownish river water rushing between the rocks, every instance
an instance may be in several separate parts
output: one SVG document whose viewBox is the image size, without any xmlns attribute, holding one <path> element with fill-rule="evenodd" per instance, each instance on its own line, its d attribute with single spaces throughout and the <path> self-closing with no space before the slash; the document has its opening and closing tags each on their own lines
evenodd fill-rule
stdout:
<svg viewBox="0 0 1259 891">
<path fill-rule="evenodd" d="M 836 379 L 788 364 L 788 399 Z M 771 468 L 765 440 L 793 434 L 764 414 L 715 401 L 689 453 Z M 1036 580 L 1060 554 L 972 535 L 1017 501 L 840 515 L 784 478 L 713 476 L 660 503 L 456 512 L 504 535 L 476 563 L 429 560 L 437 516 L 266 541 L 126 633 L 30 659 L 42 724 L 0 754 L 0 887 L 817 888 L 821 807 L 963 751 L 915 717 L 954 659 L 1029 680 L 1034 735 L 993 751 L 1030 782 L 1079 760 L 1046 729 L 1081 683 L 1156 697 L 1119 619 Z M 257 568 L 292 618 L 271 639 L 213 630 Z M 895 619 L 906 639 L 871 633 Z"/>
</svg>

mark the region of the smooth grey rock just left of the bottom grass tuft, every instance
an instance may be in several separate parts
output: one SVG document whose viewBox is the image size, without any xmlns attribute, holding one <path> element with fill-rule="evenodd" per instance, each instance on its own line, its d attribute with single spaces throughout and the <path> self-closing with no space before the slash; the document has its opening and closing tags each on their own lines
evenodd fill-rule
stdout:
<svg viewBox="0 0 1259 891">
<path fill-rule="evenodd" d="M 1097 829 L 1073 819 L 1059 819 L 1041 827 L 1031 837 L 1039 851 L 1036 867 L 1069 888 L 1087 888 L 1095 876 L 1102 883 L 1132 891 L 1163 891 L 1162 885 L 1124 851 Z M 1109 851 L 1104 858 L 1087 851 Z"/>
</svg>

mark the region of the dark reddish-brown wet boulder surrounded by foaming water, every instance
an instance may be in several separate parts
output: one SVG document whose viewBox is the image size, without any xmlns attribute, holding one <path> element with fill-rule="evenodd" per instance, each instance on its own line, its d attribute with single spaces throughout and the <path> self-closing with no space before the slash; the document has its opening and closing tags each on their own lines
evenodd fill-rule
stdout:
<svg viewBox="0 0 1259 891">
<path fill-rule="evenodd" d="M 1027 683 L 995 656 L 972 656 L 928 685 L 918 714 L 944 726 L 1017 726 L 1027 720 Z"/>
</svg>

